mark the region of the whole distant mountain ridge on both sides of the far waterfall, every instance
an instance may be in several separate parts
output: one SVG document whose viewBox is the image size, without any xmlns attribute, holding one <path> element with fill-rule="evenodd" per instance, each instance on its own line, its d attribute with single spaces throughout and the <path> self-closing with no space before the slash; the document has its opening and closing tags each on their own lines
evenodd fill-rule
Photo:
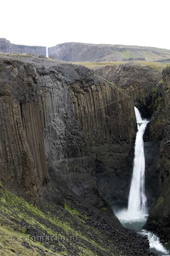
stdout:
<svg viewBox="0 0 170 256">
<path fill-rule="evenodd" d="M 129 61 L 146 60 L 169 63 L 170 50 L 136 45 L 111 45 L 88 43 L 63 43 L 48 48 L 49 55 L 58 60 L 69 62 L 79 61 Z M 27 46 L 12 44 L 5 38 L 0 38 L 2 53 L 30 53 L 46 55 L 44 46 Z"/>
</svg>

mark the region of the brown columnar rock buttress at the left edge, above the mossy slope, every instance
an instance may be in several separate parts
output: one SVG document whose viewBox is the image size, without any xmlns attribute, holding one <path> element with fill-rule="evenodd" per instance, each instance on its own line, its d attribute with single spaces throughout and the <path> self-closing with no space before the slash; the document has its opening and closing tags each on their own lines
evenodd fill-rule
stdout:
<svg viewBox="0 0 170 256">
<path fill-rule="evenodd" d="M 1 181 L 13 193 L 42 207 L 40 187 L 47 184 L 48 174 L 35 67 L 0 59 L 0 87 Z"/>
</svg>

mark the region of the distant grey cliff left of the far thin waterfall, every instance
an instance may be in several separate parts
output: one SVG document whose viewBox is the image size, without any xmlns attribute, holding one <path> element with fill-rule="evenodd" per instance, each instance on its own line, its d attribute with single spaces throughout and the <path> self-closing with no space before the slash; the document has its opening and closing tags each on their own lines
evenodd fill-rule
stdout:
<svg viewBox="0 0 170 256">
<path fill-rule="evenodd" d="M 5 38 L 0 38 L 0 52 L 2 53 L 30 53 L 46 56 L 46 47 L 12 44 Z"/>
</svg>

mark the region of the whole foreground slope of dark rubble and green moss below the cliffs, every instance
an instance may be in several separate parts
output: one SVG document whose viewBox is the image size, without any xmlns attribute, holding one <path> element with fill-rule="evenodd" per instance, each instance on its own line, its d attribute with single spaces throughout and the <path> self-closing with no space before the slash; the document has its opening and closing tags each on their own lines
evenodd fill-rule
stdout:
<svg viewBox="0 0 170 256">
<path fill-rule="evenodd" d="M 67 192 L 64 208 L 47 202 L 44 214 L 0 187 L 2 256 L 149 256 L 148 240 L 96 213 Z"/>
</svg>

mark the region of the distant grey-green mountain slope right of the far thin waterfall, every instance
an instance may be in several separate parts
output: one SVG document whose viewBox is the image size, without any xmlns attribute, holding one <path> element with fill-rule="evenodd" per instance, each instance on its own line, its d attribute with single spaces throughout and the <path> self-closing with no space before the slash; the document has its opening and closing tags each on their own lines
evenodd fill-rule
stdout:
<svg viewBox="0 0 170 256">
<path fill-rule="evenodd" d="M 170 58 L 170 50 L 155 47 L 63 43 L 49 47 L 49 55 L 65 61 L 159 60 Z"/>
</svg>

